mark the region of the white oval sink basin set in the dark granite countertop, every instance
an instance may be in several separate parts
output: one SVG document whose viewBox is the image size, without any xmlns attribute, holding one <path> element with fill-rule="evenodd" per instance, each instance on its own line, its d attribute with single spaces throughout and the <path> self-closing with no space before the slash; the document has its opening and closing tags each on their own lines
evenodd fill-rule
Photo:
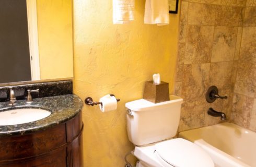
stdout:
<svg viewBox="0 0 256 167">
<path fill-rule="evenodd" d="M 15 109 L 0 112 L 0 126 L 25 124 L 51 115 L 50 111 L 42 109 Z"/>
</svg>

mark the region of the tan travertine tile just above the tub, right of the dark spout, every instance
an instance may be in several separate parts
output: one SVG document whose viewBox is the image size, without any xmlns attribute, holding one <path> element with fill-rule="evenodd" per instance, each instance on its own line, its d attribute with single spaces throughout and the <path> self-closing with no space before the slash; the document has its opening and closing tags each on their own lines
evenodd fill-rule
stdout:
<svg viewBox="0 0 256 167">
<path fill-rule="evenodd" d="M 235 124 L 249 128 L 253 101 L 253 98 L 234 94 L 231 120 Z"/>
</svg>

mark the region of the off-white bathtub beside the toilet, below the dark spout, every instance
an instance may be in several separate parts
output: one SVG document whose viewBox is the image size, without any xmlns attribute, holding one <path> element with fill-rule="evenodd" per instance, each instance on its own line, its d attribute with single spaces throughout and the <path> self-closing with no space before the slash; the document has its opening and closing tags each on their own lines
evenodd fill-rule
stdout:
<svg viewBox="0 0 256 167">
<path fill-rule="evenodd" d="M 231 123 L 181 132 L 179 137 L 202 147 L 216 167 L 256 166 L 256 133 Z"/>
</svg>

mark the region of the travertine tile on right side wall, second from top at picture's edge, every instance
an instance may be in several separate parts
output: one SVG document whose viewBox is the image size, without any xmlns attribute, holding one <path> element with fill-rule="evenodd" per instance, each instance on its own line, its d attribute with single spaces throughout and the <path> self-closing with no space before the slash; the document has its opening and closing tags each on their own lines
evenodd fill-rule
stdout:
<svg viewBox="0 0 256 167">
<path fill-rule="evenodd" d="M 256 27 L 244 27 L 239 59 L 256 62 Z"/>
</svg>

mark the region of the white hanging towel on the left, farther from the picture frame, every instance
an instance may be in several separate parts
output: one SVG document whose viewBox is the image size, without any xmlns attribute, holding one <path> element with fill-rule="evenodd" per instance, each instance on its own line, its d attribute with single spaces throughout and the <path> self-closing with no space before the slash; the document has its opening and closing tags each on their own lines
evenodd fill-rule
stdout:
<svg viewBox="0 0 256 167">
<path fill-rule="evenodd" d="M 113 0 L 113 23 L 123 24 L 134 20 L 135 0 Z"/>
</svg>

